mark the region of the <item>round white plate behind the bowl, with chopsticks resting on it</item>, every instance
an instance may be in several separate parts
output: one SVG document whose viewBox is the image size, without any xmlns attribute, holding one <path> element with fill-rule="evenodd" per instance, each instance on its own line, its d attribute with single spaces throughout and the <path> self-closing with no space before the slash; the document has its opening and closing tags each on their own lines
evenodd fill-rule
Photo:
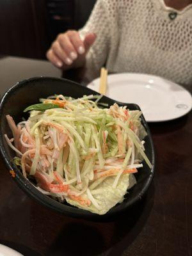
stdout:
<svg viewBox="0 0 192 256">
<path fill-rule="evenodd" d="M 93 80 L 88 88 L 99 92 L 99 80 Z M 147 122 L 173 120 L 186 115 L 192 107 L 191 94 L 182 86 L 147 74 L 109 75 L 106 96 L 138 104 Z"/>
</svg>

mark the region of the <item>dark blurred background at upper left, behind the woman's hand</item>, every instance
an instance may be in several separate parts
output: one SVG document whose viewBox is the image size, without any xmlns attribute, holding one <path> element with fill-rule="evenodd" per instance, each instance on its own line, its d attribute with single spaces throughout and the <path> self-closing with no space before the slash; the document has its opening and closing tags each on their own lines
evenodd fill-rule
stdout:
<svg viewBox="0 0 192 256">
<path fill-rule="evenodd" d="M 79 29 L 96 0 L 1 0 L 0 54 L 45 59 L 58 33 Z"/>
</svg>

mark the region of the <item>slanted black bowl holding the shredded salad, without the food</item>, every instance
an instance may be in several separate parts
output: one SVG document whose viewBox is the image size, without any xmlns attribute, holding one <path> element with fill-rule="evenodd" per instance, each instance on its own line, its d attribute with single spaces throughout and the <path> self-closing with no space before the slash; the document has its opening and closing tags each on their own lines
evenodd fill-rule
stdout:
<svg viewBox="0 0 192 256">
<path fill-rule="evenodd" d="M 0 105 L 0 147 L 6 166 L 8 170 L 15 170 L 16 176 L 14 180 L 22 190 L 24 190 L 32 198 L 35 198 L 36 201 L 53 209 L 54 211 L 61 212 L 67 216 L 86 218 L 89 220 L 107 220 L 108 218 L 113 218 L 143 197 L 154 176 L 154 146 L 145 118 L 141 116 L 142 123 L 148 133 L 148 136 L 145 138 L 145 150 L 150 162 L 153 165 L 152 170 L 150 170 L 147 164 L 144 163 L 143 168 L 140 169 L 140 172 L 136 173 L 136 186 L 129 191 L 129 194 L 127 194 L 124 202 L 122 202 L 122 204 L 115 205 L 115 207 L 113 207 L 109 212 L 100 216 L 89 211 L 77 209 L 76 207 L 67 205 L 65 203 L 61 204 L 49 196 L 43 195 L 31 184 L 31 182 L 29 182 L 29 180 L 24 178 L 20 170 L 12 162 L 15 152 L 8 147 L 4 139 L 5 133 L 8 134 L 9 138 L 11 138 L 12 132 L 8 127 L 5 116 L 7 114 L 11 115 L 15 122 L 18 123 L 23 116 L 27 117 L 28 114 L 23 113 L 23 110 L 26 107 L 38 103 L 40 98 L 45 98 L 54 94 L 63 94 L 65 96 L 78 98 L 82 97 L 83 95 L 99 93 L 96 93 L 89 88 L 82 86 L 81 84 L 77 84 L 66 79 L 52 77 L 35 77 L 15 84 L 15 86 L 10 88 L 10 90 L 4 94 Z M 115 100 L 109 99 L 108 97 L 102 97 L 102 102 L 112 105 L 115 103 Z M 117 103 L 121 106 L 126 105 L 129 109 L 140 109 L 136 104 L 125 104 L 121 102 Z"/>
</svg>

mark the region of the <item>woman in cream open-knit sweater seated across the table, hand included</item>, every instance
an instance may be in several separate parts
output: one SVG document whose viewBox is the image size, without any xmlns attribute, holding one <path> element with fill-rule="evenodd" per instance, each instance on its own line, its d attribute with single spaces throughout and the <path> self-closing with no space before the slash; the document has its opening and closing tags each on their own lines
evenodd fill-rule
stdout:
<svg viewBox="0 0 192 256">
<path fill-rule="evenodd" d="M 47 51 L 56 67 L 86 76 L 140 72 L 192 84 L 192 0 L 97 0 L 84 28 L 58 35 Z"/>
</svg>

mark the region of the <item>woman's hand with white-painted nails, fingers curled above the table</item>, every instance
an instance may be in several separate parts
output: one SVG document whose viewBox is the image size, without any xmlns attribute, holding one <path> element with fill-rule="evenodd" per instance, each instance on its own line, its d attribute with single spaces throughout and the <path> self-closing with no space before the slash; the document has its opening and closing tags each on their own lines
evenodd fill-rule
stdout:
<svg viewBox="0 0 192 256">
<path fill-rule="evenodd" d="M 63 70 L 83 67 L 86 53 L 95 42 L 95 38 L 94 33 L 88 33 L 82 41 L 77 31 L 70 30 L 62 33 L 57 36 L 47 51 L 47 59 Z"/>
</svg>

